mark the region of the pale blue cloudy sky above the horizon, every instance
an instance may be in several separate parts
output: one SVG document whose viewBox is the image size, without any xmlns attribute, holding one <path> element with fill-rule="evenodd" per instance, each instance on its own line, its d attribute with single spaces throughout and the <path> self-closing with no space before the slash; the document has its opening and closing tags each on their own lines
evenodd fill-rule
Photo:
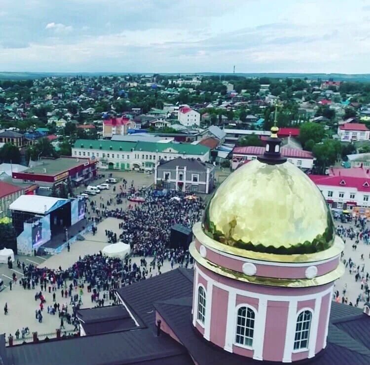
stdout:
<svg viewBox="0 0 370 365">
<path fill-rule="evenodd" d="M 370 73 L 370 0 L 0 0 L 0 71 Z"/>
</svg>

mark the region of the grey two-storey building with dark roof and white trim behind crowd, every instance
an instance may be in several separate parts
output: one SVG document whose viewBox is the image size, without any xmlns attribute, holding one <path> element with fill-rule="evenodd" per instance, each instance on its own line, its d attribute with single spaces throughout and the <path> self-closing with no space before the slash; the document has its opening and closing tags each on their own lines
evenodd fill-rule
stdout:
<svg viewBox="0 0 370 365">
<path fill-rule="evenodd" d="M 164 189 L 211 193 L 215 186 L 215 166 L 196 159 L 177 159 L 155 166 L 154 183 Z"/>
</svg>

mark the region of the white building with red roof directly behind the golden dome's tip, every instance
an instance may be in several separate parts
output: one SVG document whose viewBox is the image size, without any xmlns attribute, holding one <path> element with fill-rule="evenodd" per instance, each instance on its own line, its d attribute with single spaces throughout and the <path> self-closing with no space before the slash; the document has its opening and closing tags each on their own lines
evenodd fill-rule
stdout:
<svg viewBox="0 0 370 365">
<path fill-rule="evenodd" d="M 255 160 L 257 159 L 257 156 L 263 155 L 263 152 L 264 147 L 234 147 L 232 151 L 231 167 L 235 169 L 244 161 Z M 314 157 L 311 152 L 298 150 L 296 148 L 283 147 L 281 149 L 281 154 L 288 159 L 288 162 L 291 162 L 302 169 L 311 169 L 313 166 Z"/>
</svg>

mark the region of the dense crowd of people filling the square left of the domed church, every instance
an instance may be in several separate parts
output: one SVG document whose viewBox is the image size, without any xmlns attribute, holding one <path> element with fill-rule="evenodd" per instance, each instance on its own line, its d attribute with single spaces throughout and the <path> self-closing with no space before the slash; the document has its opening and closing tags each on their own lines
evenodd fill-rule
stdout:
<svg viewBox="0 0 370 365">
<path fill-rule="evenodd" d="M 118 207 L 122 199 L 128 197 L 141 197 L 142 202 L 128 203 L 127 209 Z M 145 280 L 153 275 L 155 268 L 160 274 L 166 260 L 172 268 L 174 265 L 188 267 L 192 264 L 188 250 L 182 246 L 170 248 L 171 227 L 180 224 L 191 228 L 200 219 L 203 208 L 203 201 L 199 197 L 186 199 L 184 193 L 173 191 L 161 195 L 151 189 L 135 190 L 133 186 L 128 192 L 120 189 L 114 199 L 91 200 L 86 204 L 86 213 L 94 222 L 94 234 L 97 232 L 97 223 L 103 219 L 115 217 L 121 220 L 116 230 L 106 231 L 107 241 L 117 242 L 118 234 L 119 240 L 130 244 L 133 256 L 141 256 L 140 265 L 129 257 L 124 260 L 108 258 L 102 252 L 79 257 L 71 267 L 62 269 L 59 266 L 58 270 L 37 267 L 32 263 L 26 265 L 18 260 L 17 266 L 24 274 L 18 280 L 19 285 L 24 290 L 37 289 L 35 320 L 42 323 L 45 315 L 58 315 L 60 329 L 64 329 L 66 321 L 74 325 L 74 331 L 78 332 L 76 313 L 84 296 L 85 301 L 91 298 L 94 306 L 115 305 L 118 304 L 115 289 Z M 10 287 L 16 283 L 17 276 L 13 273 Z M 45 293 L 51 294 L 51 303 L 46 301 Z M 70 300 L 69 305 L 66 299 Z M 62 304 L 60 301 L 63 301 Z M 17 338 L 20 333 L 24 338 L 27 331 L 22 329 L 20 332 L 18 329 Z"/>
</svg>

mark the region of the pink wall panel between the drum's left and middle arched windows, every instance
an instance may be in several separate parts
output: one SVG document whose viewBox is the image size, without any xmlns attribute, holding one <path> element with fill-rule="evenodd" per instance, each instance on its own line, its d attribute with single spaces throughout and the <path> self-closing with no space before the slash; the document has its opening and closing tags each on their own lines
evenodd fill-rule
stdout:
<svg viewBox="0 0 370 365">
<path fill-rule="evenodd" d="M 225 345 L 228 292 L 213 288 L 210 341 L 223 348 Z"/>
</svg>

